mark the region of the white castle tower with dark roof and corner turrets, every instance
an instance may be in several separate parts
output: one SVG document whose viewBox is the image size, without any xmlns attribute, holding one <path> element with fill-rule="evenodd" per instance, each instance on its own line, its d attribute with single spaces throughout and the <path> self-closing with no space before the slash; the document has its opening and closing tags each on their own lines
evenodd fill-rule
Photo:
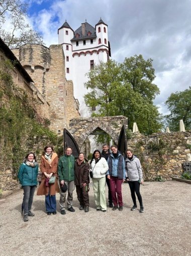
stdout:
<svg viewBox="0 0 191 256">
<path fill-rule="evenodd" d="M 79 111 L 82 117 L 88 116 L 84 103 L 84 94 L 87 89 L 84 82 L 85 74 L 93 69 L 94 65 L 107 62 L 111 57 L 108 41 L 108 25 L 102 19 L 95 28 L 82 23 L 75 31 L 65 21 L 58 29 L 58 42 L 62 44 L 65 55 L 66 79 L 73 81 L 74 97 L 79 101 Z"/>
</svg>

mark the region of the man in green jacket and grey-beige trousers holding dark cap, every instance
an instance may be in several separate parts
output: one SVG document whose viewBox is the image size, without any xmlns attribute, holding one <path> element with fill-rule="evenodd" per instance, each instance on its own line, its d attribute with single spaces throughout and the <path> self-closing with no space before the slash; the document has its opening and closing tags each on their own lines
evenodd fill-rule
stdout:
<svg viewBox="0 0 191 256">
<path fill-rule="evenodd" d="M 72 193 L 74 190 L 74 163 L 75 159 L 72 156 L 72 148 L 66 147 L 64 156 L 60 157 L 58 162 L 58 176 L 60 179 L 60 186 L 63 186 L 64 183 L 67 186 L 68 197 L 67 197 L 67 209 L 70 212 L 75 212 L 72 207 Z M 66 192 L 62 192 L 60 189 L 60 213 L 66 214 L 65 212 L 65 200 Z"/>
</svg>

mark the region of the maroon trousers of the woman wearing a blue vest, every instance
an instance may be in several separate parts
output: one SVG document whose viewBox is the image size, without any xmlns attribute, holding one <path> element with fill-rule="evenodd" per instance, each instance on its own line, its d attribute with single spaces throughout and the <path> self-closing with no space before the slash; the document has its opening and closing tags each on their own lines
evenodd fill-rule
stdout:
<svg viewBox="0 0 191 256">
<path fill-rule="evenodd" d="M 123 206 L 122 183 L 123 180 L 119 180 L 118 177 L 110 176 L 110 190 L 114 206 L 118 206 L 118 204 Z"/>
</svg>

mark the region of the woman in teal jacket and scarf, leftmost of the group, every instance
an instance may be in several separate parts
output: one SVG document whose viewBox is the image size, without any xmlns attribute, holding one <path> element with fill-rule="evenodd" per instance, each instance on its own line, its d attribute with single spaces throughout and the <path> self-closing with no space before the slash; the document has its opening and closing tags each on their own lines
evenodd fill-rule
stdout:
<svg viewBox="0 0 191 256">
<path fill-rule="evenodd" d="M 31 212 L 33 196 L 37 186 L 38 165 L 35 154 L 30 152 L 19 168 L 18 178 L 24 190 L 22 213 L 24 210 L 24 221 L 28 221 L 28 216 L 34 216 Z"/>
</svg>

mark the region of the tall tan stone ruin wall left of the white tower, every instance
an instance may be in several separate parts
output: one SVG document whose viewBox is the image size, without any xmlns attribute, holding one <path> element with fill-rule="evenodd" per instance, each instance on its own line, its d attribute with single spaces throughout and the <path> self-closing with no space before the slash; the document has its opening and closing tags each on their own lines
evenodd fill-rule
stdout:
<svg viewBox="0 0 191 256">
<path fill-rule="evenodd" d="M 62 134 L 70 118 L 79 117 L 79 106 L 73 97 L 73 84 L 65 78 L 65 60 L 62 45 L 49 48 L 26 44 L 13 49 L 35 86 L 49 103 L 50 129 Z"/>
</svg>

